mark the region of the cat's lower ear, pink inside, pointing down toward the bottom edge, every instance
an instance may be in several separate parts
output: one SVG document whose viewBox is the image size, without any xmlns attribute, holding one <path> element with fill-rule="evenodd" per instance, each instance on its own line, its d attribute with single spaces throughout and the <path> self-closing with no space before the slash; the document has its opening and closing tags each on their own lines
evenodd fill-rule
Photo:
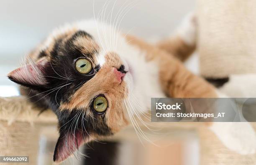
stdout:
<svg viewBox="0 0 256 165">
<path fill-rule="evenodd" d="M 80 145 L 84 144 L 84 136 L 81 130 L 76 132 L 60 133 L 54 150 L 54 162 L 62 162 L 72 155 Z"/>
</svg>

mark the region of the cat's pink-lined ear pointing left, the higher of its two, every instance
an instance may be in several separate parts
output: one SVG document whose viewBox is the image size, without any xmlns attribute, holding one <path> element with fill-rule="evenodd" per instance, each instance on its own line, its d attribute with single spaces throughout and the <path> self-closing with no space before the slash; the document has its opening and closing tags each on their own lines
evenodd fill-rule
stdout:
<svg viewBox="0 0 256 165">
<path fill-rule="evenodd" d="M 45 86 L 47 81 L 44 74 L 47 66 L 49 66 L 49 62 L 46 58 L 42 58 L 36 63 L 30 63 L 11 71 L 8 78 L 15 83 L 31 88 Z"/>
</svg>

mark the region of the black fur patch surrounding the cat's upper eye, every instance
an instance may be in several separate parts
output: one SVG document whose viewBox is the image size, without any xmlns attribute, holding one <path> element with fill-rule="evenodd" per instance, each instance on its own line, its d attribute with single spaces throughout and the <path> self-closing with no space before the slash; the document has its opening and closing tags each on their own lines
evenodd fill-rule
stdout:
<svg viewBox="0 0 256 165">
<path fill-rule="evenodd" d="M 78 31 L 65 42 L 65 36 L 56 40 L 50 54 L 51 61 L 44 69 L 45 79 L 48 84 L 36 89 L 38 93 L 53 89 L 39 95 L 39 97 L 48 99 L 47 104 L 51 109 L 58 109 L 61 102 L 69 102 L 70 96 L 100 69 L 100 66 L 96 65 L 93 74 L 90 75 L 80 74 L 74 69 L 74 60 L 77 58 L 85 57 L 93 60 L 92 56 L 97 56 L 95 52 L 83 54 L 81 48 L 73 44 L 73 41 L 78 36 L 92 38 L 90 34 Z"/>
</svg>

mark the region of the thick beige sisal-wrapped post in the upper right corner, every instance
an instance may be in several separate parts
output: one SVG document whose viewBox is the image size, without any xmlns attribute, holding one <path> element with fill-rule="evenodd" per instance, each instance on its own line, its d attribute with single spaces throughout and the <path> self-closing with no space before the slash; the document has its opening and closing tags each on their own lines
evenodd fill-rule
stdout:
<svg viewBox="0 0 256 165">
<path fill-rule="evenodd" d="M 207 78 L 256 73 L 254 0 L 197 0 L 197 51 Z"/>
</svg>

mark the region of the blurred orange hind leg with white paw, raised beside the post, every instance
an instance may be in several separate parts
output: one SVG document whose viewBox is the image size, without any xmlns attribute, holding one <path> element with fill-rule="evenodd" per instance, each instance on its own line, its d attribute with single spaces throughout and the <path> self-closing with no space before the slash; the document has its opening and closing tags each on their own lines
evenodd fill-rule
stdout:
<svg viewBox="0 0 256 165">
<path fill-rule="evenodd" d="M 171 37 L 160 41 L 157 46 L 181 61 L 185 61 L 196 48 L 197 18 L 195 13 L 189 13 Z"/>
</svg>

